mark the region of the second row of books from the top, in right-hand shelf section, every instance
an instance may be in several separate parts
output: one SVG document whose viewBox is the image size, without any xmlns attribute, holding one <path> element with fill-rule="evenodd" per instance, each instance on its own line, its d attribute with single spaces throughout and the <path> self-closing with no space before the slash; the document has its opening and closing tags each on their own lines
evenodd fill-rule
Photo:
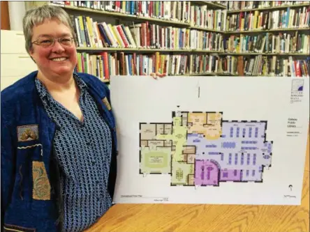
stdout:
<svg viewBox="0 0 310 232">
<path fill-rule="evenodd" d="M 267 6 L 267 4 L 275 3 L 276 1 L 229 1 L 228 7 L 252 8 L 259 6 Z M 283 1 L 285 3 L 286 1 Z M 292 1 L 294 2 L 294 1 Z M 295 1 L 296 2 L 296 1 Z M 302 1 L 304 2 L 304 1 Z M 236 3 L 236 4 L 235 4 Z M 249 4 L 247 4 L 249 3 Z M 261 5 L 259 5 L 261 4 Z M 283 32 L 283 31 L 309 31 L 309 1 L 308 5 L 293 4 L 296 8 L 286 8 L 282 10 L 253 10 L 240 11 L 232 13 L 228 10 L 226 31 L 227 33 L 265 33 L 265 32 Z"/>
</svg>

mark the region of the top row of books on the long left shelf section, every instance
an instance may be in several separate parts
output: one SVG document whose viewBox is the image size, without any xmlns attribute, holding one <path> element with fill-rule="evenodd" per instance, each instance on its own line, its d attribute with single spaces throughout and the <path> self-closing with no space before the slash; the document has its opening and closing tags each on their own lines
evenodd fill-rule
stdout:
<svg viewBox="0 0 310 232">
<path fill-rule="evenodd" d="M 226 28 L 226 10 L 212 10 L 207 5 L 194 6 L 191 1 L 52 1 L 52 3 L 185 22 L 207 29 L 223 31 Z"/>
</svg>

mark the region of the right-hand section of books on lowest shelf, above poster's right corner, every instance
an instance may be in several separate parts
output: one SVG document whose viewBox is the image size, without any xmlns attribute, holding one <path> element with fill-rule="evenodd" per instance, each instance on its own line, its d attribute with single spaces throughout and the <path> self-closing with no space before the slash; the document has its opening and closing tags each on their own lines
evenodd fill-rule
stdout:
<svg viewBox="0 0 310 232">
<path fill-rule="evenodd" d="M 293 60 L 277 56 L 256 56 L 244 58 L 244 73 L 246 76 L 270 76 L 270 77 L 309 77 L 310 60 Z M 238 74 L 240 75 L 240 74 Z"/>
</svg>

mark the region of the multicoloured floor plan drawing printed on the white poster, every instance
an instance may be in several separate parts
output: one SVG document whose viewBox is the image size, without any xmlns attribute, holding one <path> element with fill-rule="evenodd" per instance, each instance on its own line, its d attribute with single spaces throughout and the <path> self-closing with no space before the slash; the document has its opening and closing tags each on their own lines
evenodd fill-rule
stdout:
<svg viewBox="0 0 310 232">
<path fill-rule="evenodd" d="M 173 111 L 171 123 L 140 123 L 140 174 L 171 185 L 263 182 L 271 167 L 267 121 L 225 121 L 223 112 Z"/>
</svg>

